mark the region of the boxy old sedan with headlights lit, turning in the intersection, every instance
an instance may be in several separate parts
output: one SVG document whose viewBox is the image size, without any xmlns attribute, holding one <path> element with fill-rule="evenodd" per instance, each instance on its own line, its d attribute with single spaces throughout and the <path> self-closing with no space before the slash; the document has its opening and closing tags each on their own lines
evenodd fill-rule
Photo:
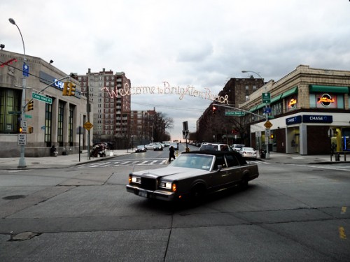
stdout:
<svg viewBox="0 0 350 262">
<path fill-rule="evenodd" d="M 126 189 L 145 198 L 199 201 L 222 189 L 248 187 L 258 176 L 258 166 L 237 152 L 193 151 L 183 152 L 165 168 L 130 173 Z"/>
</svg>

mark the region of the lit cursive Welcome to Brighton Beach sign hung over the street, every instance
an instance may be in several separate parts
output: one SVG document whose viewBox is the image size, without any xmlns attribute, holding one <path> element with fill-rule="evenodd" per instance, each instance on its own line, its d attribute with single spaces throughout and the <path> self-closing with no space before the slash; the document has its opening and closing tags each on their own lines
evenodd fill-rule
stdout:
<svg viewBox="0 0 350 262">
<path fill-rule="evenodd" d="M 179 99 L 182 100 L 183 96 L 195 96 L 200 97 L 202 99 L 207 99 L 211 101 L 216 101 L 218 103 L 228 103 L 228 95 L 218 96 L 216 94 L 211 93 L 209 88 L 204 88 L 205 91 L 201 92 L 195 87 L 188 85 L 187 87 L 170 87 L 168 82 L 163 82 L 164 87 L 129 87 L 126 83 L 124 88 L 120 88 L 117 90 L 109 90 L 108 87 L 102 88 L 111 98 L 119 96 L 127 96 L 127 95 L 137 95 L 137 94 L 176 94 L 179 95 Z"/>
</svg>

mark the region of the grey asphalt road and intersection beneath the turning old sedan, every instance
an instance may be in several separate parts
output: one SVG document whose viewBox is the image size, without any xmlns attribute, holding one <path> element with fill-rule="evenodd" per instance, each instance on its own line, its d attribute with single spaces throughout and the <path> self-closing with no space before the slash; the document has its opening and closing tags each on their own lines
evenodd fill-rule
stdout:
<svg viewBox="0 0 350 262">
<path fill-rule="evenodd" d="M 248 189 L 195 207 L 126 192 L 167 157 L 0 171 L 0 261 L 349 261 L 349 172 L 259 163 Z"/>
</svg>

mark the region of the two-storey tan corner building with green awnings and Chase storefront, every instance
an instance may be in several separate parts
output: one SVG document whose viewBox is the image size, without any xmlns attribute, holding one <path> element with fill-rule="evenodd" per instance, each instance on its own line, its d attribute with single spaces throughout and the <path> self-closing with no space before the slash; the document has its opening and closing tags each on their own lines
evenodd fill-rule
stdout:
<svg viewBox="0 0 350 262">
<path fill-rule="evenodd" d="M 239 108 L 255 114 L 241 117 L 249 126 L 251 146 L 282 153 L 350 152 L 350 71 L 300 65 L 280 80 L 270 80 Z M 262 94 L 269 93 L 269 103 Z M 266 109 L 268 108 L 268 109 Z M 258 117 L 261 115 L 262 117 Z M 266 119 L 272 126 L 267 136 Z"/>
</svg>

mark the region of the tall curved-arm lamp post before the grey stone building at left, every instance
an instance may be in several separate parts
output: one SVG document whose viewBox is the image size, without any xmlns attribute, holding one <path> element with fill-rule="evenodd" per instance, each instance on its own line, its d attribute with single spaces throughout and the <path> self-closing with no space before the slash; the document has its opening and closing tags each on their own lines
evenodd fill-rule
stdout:
<svg viewBox="0 0 350 262">
<path fill-rule="evenodd" d="M 18 31 L 20 31 L 20 27 L 16 24 L 15 20 L 12 18 L 9 18 L 8 21 L 10 21 L 11 24 L 15 24 L 15 26 L 18 28 Z M 25 41 L 23 40 L 22 32 L 20 31 L 20 36 L 22 38 L 22 44 L 23 44 L 23 78 L 22 78 L 22 102 L 21 102 L 21 119 L 20 119 L 20 127 L 23 130 L 23 121 L 25 120 L 25 89 L 26 89 L 26 74 L 25 72 L 28 71 L 28 67 L 26 64 L 26 58 L 25 58 Z M 20 145 L 20 162 L 18 163 L 19 168 L 25 168 L 27 165 L 25 163 L 25 145 Z"/>
</svg>

